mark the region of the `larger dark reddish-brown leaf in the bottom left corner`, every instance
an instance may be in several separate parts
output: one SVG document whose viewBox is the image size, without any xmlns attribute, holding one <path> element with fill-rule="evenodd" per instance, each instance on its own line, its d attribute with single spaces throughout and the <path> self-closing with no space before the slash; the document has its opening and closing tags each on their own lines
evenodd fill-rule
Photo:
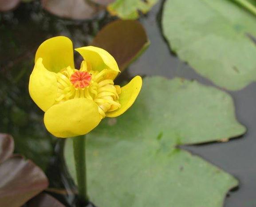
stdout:
<svg viewBox="0 0 256 207">
<path fill-rule="evenodd" d="M 20 207 L 47 186 L 47 177 L 31 160 L 12 156 L 0 165 L 2 207 Z"/>
</svg>

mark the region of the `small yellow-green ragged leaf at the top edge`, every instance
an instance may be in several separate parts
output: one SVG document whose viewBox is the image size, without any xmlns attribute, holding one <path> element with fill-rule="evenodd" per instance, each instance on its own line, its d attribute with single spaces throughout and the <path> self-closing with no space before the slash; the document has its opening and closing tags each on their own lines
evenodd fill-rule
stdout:
<svg viewBox="0 0 256 207">
<path fill-rule="evenodd" d="M 138 19 L 138 10 L 147 13 L 158 0 L 116 0 L 108 6 L 108 11 L 113 16 L 118 16 L 125 20 Z"/>
</svg>

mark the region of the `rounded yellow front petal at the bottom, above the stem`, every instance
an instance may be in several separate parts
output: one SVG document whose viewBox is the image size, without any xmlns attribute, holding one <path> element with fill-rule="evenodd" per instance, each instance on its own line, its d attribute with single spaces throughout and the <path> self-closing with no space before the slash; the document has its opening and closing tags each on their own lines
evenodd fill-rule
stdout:
<svg viewBox="0 0 256 207">
<path fill-rule="evenodd" d="M 95 102 L 75 98 L 51 106 L 43 120 L 51 134 L 67 138 L 87 134 L 99 124 L 101 117 Z"/>
</svg>

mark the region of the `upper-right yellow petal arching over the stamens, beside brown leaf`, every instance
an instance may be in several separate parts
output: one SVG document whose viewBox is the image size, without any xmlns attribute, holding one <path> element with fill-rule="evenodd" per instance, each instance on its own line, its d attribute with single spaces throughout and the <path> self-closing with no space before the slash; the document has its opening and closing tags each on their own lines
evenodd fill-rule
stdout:
<svg viewBox="0 0 256 207">
<path fill-rule="evenodd" d="M 112 70 L 110 77 L 108 77 L 109 79 L 111 78 L 113 80 L 120 72 L 117 62 L 115 61 L 113 56 L 102 48 L 87 46 L 79 47 L 75 49 L 75 51 L 78 51 L 80 55 L 83 56 L 83 59 L 87 62 L 89 66 L 91 66 L 92 70 Z"/>
</svg>

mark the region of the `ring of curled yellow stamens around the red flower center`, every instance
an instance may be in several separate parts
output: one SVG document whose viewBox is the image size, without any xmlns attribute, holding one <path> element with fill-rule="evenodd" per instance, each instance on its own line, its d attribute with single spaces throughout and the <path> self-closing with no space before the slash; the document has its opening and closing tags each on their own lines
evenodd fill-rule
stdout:
<svg viewBox="0 0 256 207">
<path fill-rule="evenodd" d="M 91 74 L 90 85 L 85 88 L 76 88 L 70 81 L 71 75 L 76 69 L 68 66 L 57 73 L 58 92 L 55 99 L 56 103 L 67 101 L 73 98 L 88 98 L 98 105 L 98 112 L 102 118 L 106 116 L 106 112 L 114 111 L 120 108 L 119 94 L 121 94 L 120 86 L 114 85 L 112 79 L 107 79 L 108 69 L 102 71 L 89 70 Z M 80 71 L 87 71 L 86 62 L 82 62 Z"/>
</svg>

